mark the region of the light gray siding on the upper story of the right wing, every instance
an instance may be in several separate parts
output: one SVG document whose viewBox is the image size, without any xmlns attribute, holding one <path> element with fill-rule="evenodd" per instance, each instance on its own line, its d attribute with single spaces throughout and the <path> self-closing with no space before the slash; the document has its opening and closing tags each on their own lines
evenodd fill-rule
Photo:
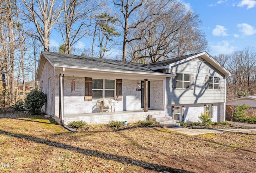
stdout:
<svg viewBox="0 0 256 173">
<path fill-rule="evenodd" d="M 167 78 L 168 104 L 220 103 L 225 101 L 225 77 L 206 61 L 190 60 L 168 69 L 167 72 L 194 74 L 193 89 L 172 89 L 172 78 Z M 222 77 L 221 90 L 206 90 L 206 75 Z"/>
</svg>

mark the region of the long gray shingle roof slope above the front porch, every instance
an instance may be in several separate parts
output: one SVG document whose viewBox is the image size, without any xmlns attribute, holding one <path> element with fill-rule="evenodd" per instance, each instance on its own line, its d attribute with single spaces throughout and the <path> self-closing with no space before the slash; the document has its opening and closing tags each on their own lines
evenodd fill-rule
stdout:
<svg viewBox="0 0 256 173">
<path fill-rule="evenodd" d="M 130 71 L 144 73 L 162 73 L 149 69 L 147 64 L 117 61 L 112 59 L 100 59 L 93 57 L 83 57 L 63 53 L 52 53 L 43 51 L 42 54 L 54 65 L 83 67 L 92 69 L 104 69 L 113 71 Z"/>
</svg>

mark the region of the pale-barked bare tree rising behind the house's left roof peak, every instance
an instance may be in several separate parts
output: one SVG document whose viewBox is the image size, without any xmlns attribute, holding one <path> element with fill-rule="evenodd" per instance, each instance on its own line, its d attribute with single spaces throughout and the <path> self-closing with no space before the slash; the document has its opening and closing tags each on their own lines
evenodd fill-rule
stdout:
<svg viewBox="0 0 256 173">
<path fill-rule="evenodd" d="M 62 12 L 62 3 L 58 0 L 22 0 L 26 5 L 28 13 L 24 16 L 26 20 L 32 22 L 36 28 L 27 31 L 27 34 L 38 39 L 44 46 L 44 51 L 49 51 L 50 31 L 52 26 L 58 22 Z"/>
</svg>

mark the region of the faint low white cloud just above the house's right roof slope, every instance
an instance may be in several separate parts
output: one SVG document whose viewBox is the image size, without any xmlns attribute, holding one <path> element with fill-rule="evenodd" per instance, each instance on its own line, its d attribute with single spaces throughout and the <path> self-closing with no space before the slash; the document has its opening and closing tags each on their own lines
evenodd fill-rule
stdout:
<svg viewBox="0 0 256 173">
<path fill-rule="evenodd" d="M 235 51 L 237 47 L 231 46 L 226 40 L 218 42 L 216 45 L 211 45 L 211 55 L 230 54 Z"/>
</svg>

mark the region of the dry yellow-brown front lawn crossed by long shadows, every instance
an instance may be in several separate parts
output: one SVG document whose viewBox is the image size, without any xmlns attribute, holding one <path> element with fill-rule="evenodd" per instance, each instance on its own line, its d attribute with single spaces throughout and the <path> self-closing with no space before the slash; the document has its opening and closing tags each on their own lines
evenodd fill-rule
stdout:
<svg viewBox="0 0 256 173">
<path fill-rule="evenodd" d="M 0 165 L 0 172 L 256 172 L 254 132 L 186 136 L 162 128 L 95 129 L 74 134 L 41 116 L 2 109 L 0 162 L 13 165 Z"/>
</svg>

